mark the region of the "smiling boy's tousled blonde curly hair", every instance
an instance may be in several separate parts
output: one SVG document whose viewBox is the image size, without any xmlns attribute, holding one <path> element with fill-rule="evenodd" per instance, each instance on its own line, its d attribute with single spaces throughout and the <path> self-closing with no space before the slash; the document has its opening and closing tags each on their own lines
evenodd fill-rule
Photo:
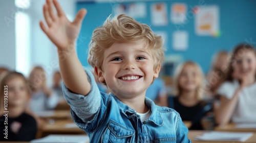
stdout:
<svg viewBox="0 0 256 143">
<path fill-rule="evenodd" d="M 103 71 L 104 51 L 113 43 L 144 42 L 146 50 L 153 56 L 154 69 L 164 60 L 163 40 L 145 24 L 141 24 L 130 16 L 121 14 L 104 21 L 103 25 L 93 31 L 88 63 Z"/>
</svg>

